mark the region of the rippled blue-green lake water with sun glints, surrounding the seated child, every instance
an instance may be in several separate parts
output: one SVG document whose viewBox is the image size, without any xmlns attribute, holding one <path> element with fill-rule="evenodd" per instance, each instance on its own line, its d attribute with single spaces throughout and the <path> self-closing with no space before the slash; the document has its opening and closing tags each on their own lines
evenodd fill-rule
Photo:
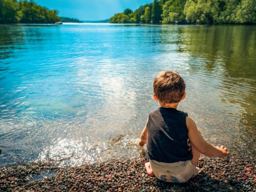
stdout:
<svg viewBox="0 0 256 192">
<path fill-rule="evenodd" d="M 253 157 L 255 39 L 256 26 L 0 25 L 0 166 L 138 157 L 162 70 L 185 79 L 179 109 L 206 140 Z"/>
</svg>

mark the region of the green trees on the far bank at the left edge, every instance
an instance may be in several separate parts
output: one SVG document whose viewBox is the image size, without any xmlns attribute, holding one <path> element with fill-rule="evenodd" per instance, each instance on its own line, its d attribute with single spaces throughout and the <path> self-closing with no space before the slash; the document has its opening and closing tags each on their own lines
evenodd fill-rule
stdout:
<svg viewBox="0 0 256 192">
<path fill-rule="evenodd" d="M 57 10 L 49 10 L 32 0 L 0 0 L 0 24 L 53 24 L 59 21 Z"/>
</svg>

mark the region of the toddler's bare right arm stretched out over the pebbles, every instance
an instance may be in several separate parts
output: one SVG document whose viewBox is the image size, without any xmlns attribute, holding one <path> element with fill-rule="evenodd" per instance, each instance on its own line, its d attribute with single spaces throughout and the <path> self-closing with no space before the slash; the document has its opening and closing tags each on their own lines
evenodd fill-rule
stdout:
<svg viewBox="0 0 256 192">
<path fill-rule="evenodd" d="M 196 123 L 193 119 L 187 117 L 186 123 L 188 127 L 188 138 L 190 143 L 197 148 L 197 150 L 208 156 L 208 157 L 227 157 L 230 155 L 230 152 L 227 151 L 227 148 L 221 145 L 214 146 L 202 137 L 201 132 L 198 130 Z"/>
</svg>

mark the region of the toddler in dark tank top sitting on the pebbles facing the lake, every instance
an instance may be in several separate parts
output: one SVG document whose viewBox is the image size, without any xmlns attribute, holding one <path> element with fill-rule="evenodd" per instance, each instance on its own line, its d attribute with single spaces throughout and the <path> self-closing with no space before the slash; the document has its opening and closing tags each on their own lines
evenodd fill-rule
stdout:
<svg viewBox="0 0 256 192">
<path fill-rule="evenodd" d="M 139 145 L 146 143 L 146 172 L 165 182 L 183 183 L 198 172 L 201 154 L 227 157 L 223 145 L 214 146 L 201 135 L 196 123 L 177 107 L 186 96 L 185 82 L 172 71 L 161 72 L 154 80 L 154 99 L 160 108 L 150 113 Z"/>
</svg>

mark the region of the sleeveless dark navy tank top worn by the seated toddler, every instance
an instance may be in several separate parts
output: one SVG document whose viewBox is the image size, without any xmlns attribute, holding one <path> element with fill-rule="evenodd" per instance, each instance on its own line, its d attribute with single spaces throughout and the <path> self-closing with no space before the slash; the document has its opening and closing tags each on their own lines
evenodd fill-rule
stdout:
<svg viewBox="0 0 256 192">
<path fill-rule="evenodd" d="M 193 158 L 186 117 L 187 113 L 162 107 L 148 116 L 146 143 L 148 159 L 174 163 Z"/>
</svg>

